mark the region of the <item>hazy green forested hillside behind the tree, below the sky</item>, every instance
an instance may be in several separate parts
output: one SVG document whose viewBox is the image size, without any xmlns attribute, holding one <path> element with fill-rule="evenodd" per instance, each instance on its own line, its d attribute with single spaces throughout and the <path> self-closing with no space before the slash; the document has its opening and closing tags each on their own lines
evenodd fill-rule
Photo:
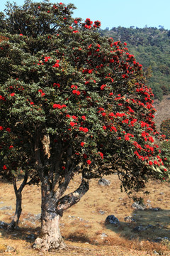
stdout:
<svg viewBox="0 0 170 256">
<path fill-rule="evenodd" d="M 170 93 L 170 31 L 164 28 L 112 28 L 101 30 L 102 36 L 110 36 L 114 41 L 127 43 L 130 53 L 145 69 L 152 69 L 149 87 L 157 99 Z"/>
</svg>

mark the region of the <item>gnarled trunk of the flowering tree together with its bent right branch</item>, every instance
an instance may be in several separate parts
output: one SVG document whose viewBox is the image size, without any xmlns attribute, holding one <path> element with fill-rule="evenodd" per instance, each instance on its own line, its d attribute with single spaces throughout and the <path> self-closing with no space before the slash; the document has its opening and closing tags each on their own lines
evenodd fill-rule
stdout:
<svg viewBox="0 0 170 256">
<path fill-rule="evenodd" d="M 57 193 L 50 190 L 47 183 L 42 183 L 42 236 L 35 240 L 33 248 L 50 251 L 59 248 L 64 249 L 64 247 L 66 247 L 62 235 L 60 234 L 60 218 L 62 217 L 63 211 L 79 202 L 81 197 L 88 190 L 89 181 L 82 178 L 81 184 L 76 191 L 62 198 L 57 198 Z"/>
</svg>

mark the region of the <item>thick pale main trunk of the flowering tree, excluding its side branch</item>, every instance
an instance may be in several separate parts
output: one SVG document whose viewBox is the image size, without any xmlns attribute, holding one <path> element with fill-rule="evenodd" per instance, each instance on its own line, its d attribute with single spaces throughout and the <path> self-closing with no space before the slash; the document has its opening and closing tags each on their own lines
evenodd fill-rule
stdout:
<svg viewBox="0 0 170 256">
<path fill-rule="evenodd" d="M 56 249 L 64 249 L 66 245 L 60 233 L 61 216 L 56 210 L 56 199 L 52 197 L 50 191 L 42 186 L 42 206 L 41 206 L 41 238 L 37 238 L 33 244 L 33 248 L 50 251 Z"/>
</svg>

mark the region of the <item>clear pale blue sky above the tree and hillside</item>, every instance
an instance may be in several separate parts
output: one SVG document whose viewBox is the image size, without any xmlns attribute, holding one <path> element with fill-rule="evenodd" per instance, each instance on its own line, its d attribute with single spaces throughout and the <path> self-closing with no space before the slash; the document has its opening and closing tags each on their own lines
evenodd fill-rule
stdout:
<svg viewBox="0 0 170 256">
<path fill-rule="evenodd" d="M 101 28 L 105 29 L 123 26 L 137 26 L 138 28 L 164 26 L 170 30 L 170 0 L 59 0 L 52 3 L 72 3 L 77 7 L 74 17 L 91 18 L 101 21 Z M 13 2 L 10 0 L 10 2 Z M 16 0 L 22 5 L 24 0 Z M 6 0 L 1 0 L 0 11 L 5 9 Z"/>
</svg>

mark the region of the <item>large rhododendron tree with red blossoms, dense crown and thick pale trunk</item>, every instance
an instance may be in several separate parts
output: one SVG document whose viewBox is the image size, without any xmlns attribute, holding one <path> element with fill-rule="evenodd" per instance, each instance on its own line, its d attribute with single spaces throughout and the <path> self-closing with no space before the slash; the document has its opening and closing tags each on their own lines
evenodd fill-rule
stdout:
<svg viewBox="0 0 170 256">
<path fill-rule="evenodd" d="M 42 237 L 34 246 L 43 250 L 64 247 L 60 218 L 91 178 L 118 174 L 127 193 L 149 178 L 169 178 L 142 65 L 126 43 L 99 35 L 100 21 L 81 22 L 73 10 L 62 3 L 8 4 L 1 29 L 8 39 L 0 46 L 0 132 L 10 127 L 13 134 L 4 171 L 19 152 L 21 168 L 31 163 L 38 172 Z M 81 183 L 67 193 L 75 175 Z"/>
</svg>

